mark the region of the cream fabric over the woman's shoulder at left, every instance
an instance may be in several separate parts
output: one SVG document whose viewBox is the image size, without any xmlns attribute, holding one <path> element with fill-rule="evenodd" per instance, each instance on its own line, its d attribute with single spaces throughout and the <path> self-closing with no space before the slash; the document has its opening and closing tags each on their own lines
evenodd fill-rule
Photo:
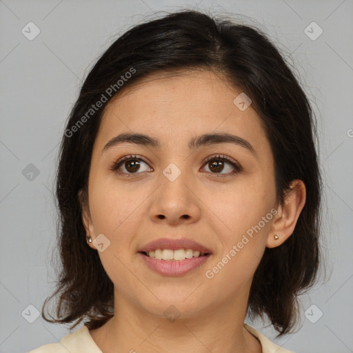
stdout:
<svg viewBox="0 0 353 353">
<path fill-rule="evenodd" d="M 64 336 L 58 343 L 41 345 L 28 353 L 102 353 L 86 326 Z"/>
</svg>

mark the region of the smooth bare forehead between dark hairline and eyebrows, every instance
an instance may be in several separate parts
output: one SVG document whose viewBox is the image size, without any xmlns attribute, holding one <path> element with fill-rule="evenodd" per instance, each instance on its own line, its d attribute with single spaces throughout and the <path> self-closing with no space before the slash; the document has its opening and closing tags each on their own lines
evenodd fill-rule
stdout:
<svg viewBox="0 0 353 353">
<path fill-rule="evenodd" d="M 242 111 L 234 104 L 239 94 L 223 74 L 208 70 L 150 74 L 110 101 L 97 143 L 120 132 L 158 135 L 170 142 L 183 135 L 231 130 L 256 144 L 256 135 L 263 136 L 261 120 L 251 105 Z"/>
</svg>

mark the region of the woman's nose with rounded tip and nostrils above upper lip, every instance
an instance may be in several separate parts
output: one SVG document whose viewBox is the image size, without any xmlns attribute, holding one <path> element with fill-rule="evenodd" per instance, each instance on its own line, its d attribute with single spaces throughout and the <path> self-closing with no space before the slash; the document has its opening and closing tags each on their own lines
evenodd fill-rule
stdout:
<svg viewBox="0 0 353 353">
<path fill-rule="evenodd" d="M 199 220 L 200 196 L 194 188 L 194 181 L 182 172 L 177 179 L 172 181 L 161 174 L 161 185 L 152 194 L 150 217 L 157 223 L 178 225 L 194 223 Z"/>
</svg>

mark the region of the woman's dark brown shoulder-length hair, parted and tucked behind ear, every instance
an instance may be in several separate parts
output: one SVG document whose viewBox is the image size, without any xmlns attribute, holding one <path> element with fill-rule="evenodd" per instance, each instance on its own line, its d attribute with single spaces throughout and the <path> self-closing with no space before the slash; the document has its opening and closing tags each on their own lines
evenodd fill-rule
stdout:
<svg viewBox="0 0 353 353">
<path fill-rule="evenodd" d="M 297 297 L 313 285 L 321 255 L 321 177 L 314 114 L 289 65 L 261 30 L 194 10 L 174 12 L 125 32 L 103 53 L 82 85 L 59 150 L 56 192 L 62 268 L 57 290 L 43 304 L 47 321 L 74 327 L 84 320 L 88 328 L 96 328 L 114 314 L 113 283 L 97 251 L 88 247 L 81 219 L 92 147 L 105 105 L 152 72 L 192 68 L 221 72 L 252 99 L 272 148 L 279 203 L 290 191 L 291 181 L 305 183 L 306 203 L 295 230 L 282 245 L 265 249 L 248 301 L 250 318 L 268 316 L 278 336 L 289 333 L 297 322 Z M 97 108 L 97 101 L 105 102 Z M 53 297 L 58 299 L 57 319 L 50 315 L 50 320 L 44 308 Z"/>
</svg>

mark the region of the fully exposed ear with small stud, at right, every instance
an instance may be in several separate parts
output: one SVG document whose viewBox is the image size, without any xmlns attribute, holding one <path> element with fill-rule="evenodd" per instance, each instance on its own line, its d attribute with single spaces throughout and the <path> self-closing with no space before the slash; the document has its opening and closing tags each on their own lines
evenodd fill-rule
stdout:
<svg viewBox="0 0 353 353">
<path fill-rule="evenodd" d="M 283 244 L 294 232 L 296 221 L 303 210 L 306 199 L 305 184 L 303 181 L 296 179 L 292 181 L 290 190 L 286 192 L 282 205 L 279 205 L 277 214 L 272 221 L 268 240 L 266 242 L 267 248 L 276 248 Z M 279 236 L 275 240 L 274 235 Z"/>
</svg>

